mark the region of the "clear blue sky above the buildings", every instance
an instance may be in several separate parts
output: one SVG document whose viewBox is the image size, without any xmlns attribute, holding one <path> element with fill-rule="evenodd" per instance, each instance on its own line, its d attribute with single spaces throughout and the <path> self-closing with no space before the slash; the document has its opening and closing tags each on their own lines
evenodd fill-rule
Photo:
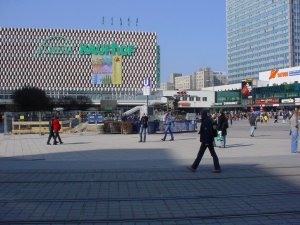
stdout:
<svg viewBox="0 0 300 225">
<path fill-rule="evenodd" d="M 0 0 L 0 27 L 156 32 L 161 82 L 203 67 L 227 71 L 225 16 L 225 0 Z"/>
</svg>

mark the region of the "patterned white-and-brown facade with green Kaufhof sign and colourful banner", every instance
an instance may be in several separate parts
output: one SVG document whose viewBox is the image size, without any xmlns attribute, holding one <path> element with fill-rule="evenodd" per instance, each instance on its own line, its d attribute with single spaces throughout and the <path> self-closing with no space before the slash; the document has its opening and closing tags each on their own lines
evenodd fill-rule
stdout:
<svg viewBox="0 0 300 225">
<path fill-rule="evenodd" d="M 101 99 L 160 83 L 154 32 L 0 28 L 0 52 L 2 97 L 30 86 Z"/>
</svg>

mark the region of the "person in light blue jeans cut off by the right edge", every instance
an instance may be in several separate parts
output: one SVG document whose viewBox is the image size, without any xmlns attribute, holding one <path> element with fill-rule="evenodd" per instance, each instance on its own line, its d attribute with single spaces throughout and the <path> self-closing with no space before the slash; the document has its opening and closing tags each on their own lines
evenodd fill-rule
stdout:
<svg viewBox="0 0 300 225">
<path fill-rule="evenodd" d="M 298 122 L 299 111 L 296 108 L 291 116 L 290 120 L 290 135 L 291 135 L 291 153 L 298 152 L 298 138 L 299 138 L 299 122 Z"/>
</svg>

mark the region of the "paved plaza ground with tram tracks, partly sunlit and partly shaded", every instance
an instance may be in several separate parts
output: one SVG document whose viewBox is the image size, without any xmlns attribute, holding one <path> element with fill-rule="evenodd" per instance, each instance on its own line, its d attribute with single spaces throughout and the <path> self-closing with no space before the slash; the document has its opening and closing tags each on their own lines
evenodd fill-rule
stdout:
<svg viewBox="0 0 300 225">
<path fill-rule="evenodd" d="M 290 153 L 288 124 L 247 121 L 228 129 L 198 170 L 199 135 L 0 134 L 0 224 L 300 224 L 300 154 Z"/>
</svg>

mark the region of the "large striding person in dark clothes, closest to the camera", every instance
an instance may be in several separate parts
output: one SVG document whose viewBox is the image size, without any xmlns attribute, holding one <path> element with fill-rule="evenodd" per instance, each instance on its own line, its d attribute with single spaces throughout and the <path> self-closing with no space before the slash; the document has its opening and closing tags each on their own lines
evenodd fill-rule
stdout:
<svg viewBox="0 0 300 225">
<path fill-rule="evenodd" d="M 207 111 L 202 112 L 202 121 L 201 121 L 199 134 L 200 134 L 201 146 L 197 158 L 195 159 L 194 163 L 191 166 L 188 166 L 187 168 L 190 171 L 195 172 L 200 164 L 200 161 L 204 155 L 206 148 L 208 147 L 214 161 L 214 169 L 212 172 L 220 173 L 221 167 L 219 164 L 217 153 L 215 152 L 214 145 L 213 145 L 213 141 L 214 141 L 213 123 L 212 123 L 212 119 L 208 117 Z"/>
</svg>

